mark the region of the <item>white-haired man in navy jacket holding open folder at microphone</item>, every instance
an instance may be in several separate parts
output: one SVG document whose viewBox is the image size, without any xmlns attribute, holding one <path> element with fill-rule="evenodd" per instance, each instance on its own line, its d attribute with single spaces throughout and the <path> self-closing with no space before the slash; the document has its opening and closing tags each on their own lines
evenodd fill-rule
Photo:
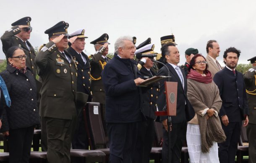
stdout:
<svg viewBox="0 0 256 163">
<path fill-rule="evenodd" d="M 122 36 L 115 42 L 115 55 L 102 71 L 106 93 L 106 123 L 110 141 L 110 163 L 131 163 L 141 111 L 141 91 L 144 82 L 133 60 L 133 39 Z"/>
</svg>

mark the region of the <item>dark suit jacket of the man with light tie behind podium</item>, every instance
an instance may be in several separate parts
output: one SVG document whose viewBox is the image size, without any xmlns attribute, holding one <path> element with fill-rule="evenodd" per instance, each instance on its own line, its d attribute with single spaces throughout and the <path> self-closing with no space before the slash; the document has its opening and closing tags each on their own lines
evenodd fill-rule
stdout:
<svg viewBox="0 0 256 163">
<path fill-rule="evenodd" d="M 181 123 L 181 122 L 185 122 L 185 121 L 188 122 L 195 116 L 195 112 L 187 98 L 188 88 L 187 88 L 187 79 L 185 76 L 185 72 L 182 68 L 180 68 L 183 78 L 184 78 L 184 89 L 183 89 L 182 83 L 181 83 L 180 78 L 179 78 L 177 72 L 175 71 L 175 69 L 169 63 L 166 63 L 166 66 L 168 67 L 168 69 L 170 71 L 170 76 L 171 76 L 170 82 L 178 82 L 177 98 L 176 98 L 177 99 L 177 108 L 176 108 L 177 111 L 176 111 L 176 116 L 171 116 L 172 123 L 177 124 L 177 123 Z M 162 67 L 158 71 L 157 76 L 168 76 L 167 69 L 165 67 Z M 157 107 L 158 107 L 159 111 L 162 111 L 166 105 L 165 81 L 168 81 L 168 79 L 160 81 L 160 91 L 159 91 L 159 96 L 157 98 Z M 186 102 L 186 105 L 185 105 L 185 102 Z M 167 119 L 167 116 L 160 117 L 160 121 L 163 121 L 165 119 Z"/>
</svg>

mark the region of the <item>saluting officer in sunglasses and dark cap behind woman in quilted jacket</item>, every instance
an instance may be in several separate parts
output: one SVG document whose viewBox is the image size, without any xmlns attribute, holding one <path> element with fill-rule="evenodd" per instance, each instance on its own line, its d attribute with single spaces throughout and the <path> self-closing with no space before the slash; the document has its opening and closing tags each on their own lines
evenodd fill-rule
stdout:
<svg viewBox="0 0 256 163">
<path fill-rule="evenodd" d="M 8 31 L 5 31 L 3 36 L 1 37 L 1 41 L 3 44 L 3 52 L 5 53 L 10 47 L 17 46 L 22 47 L 24 53 L 26 54 L 26 67 L 29 69 L 34 78 L 37 75 L 37 67 L 34 63 L 34 59 L 36 57 L 34 48 L 28 41 L 30 38 L 30 34 L 32 31 L 32 27 L 30 26 L 30 17 L 24 17 L 19 19 L 18 21 L 11 24 L 13 26 Z"/>
</svg>

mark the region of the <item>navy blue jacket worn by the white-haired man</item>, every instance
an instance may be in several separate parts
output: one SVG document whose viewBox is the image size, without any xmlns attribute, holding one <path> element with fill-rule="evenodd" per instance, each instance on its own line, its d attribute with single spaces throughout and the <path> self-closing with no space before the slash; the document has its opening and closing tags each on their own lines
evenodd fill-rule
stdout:
<svg viewBox="0 0 256 163">
<path fill-rule="evenodd" d="M 114 55 L 102 71 L 106 93 L 106 122 L 139 122 L 141 96 L 134 79 L 141 77 L 134 60 L 121 59 Z"/>
</svg>

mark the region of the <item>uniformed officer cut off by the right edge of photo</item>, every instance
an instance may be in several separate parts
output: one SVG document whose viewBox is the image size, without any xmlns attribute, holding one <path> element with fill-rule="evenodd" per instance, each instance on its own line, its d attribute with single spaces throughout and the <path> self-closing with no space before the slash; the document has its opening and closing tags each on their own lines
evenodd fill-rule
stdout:
<svg viewBox="0 0 256 163">
<path fill-rule="evenodd" d="M 249 110 L 247 137 L 249 142 L 249 163 L 256 163 L 256 57 L 252 57 L 252 68 L 243 74 Z"/>
</svg>

